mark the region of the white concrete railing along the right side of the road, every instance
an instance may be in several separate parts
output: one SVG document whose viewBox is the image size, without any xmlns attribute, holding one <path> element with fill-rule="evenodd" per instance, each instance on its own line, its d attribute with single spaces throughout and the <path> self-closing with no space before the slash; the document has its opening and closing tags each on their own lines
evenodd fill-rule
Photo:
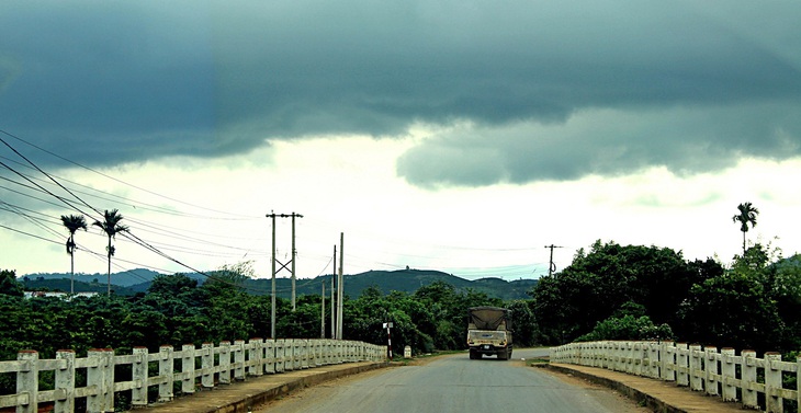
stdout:
<svg viewBox="0 0 801 413">
<path fill-rule="evenodd" d="M 741 402 L 745 408 L 759 409 L 757 394 L 765 398 L 766 412 L 783 411 L 782 400 L 796 400 L 801 405 L 801 356 L 796 362 L 782 362 L 781 354 L 734 348 L 701 347 L 686 343 L 658 342 L 589 342 L 571 343 L 551 348 L 551 363 L 567 363 L 601 367 L 631 375 L 676 382 L 695 391 Z M 782 387 L 782 376 L 797 378 L 796 389 Z M 740 395 L 738 395 L 740 394 Z"/>
</svg>

